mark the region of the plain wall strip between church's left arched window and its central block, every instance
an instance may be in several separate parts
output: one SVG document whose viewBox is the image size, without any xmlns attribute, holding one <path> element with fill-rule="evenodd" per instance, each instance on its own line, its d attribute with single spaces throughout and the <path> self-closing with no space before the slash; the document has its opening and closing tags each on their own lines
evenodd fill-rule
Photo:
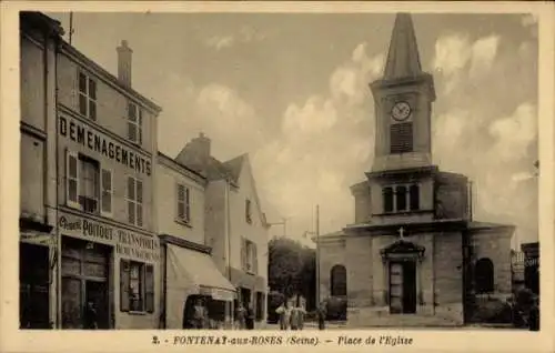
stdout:
<svg viewBox="0 0 555 353">
<path fill-rule="evenodd" d="M 355 236 L 345 240 L 349 306 L 372 305 L 372 271 L 375 258 L 371 254 L 371 236 Z"/>
</svg>

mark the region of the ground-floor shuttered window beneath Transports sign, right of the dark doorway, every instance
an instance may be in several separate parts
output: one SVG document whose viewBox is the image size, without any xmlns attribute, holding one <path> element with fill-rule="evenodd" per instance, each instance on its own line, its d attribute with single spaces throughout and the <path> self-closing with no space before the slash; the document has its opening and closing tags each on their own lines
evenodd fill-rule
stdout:
<svg viewBox="0 0 555 353">
<path fill-rule="evenodd" d="M 154 266 L 120 261 L 120 310 L 154 312 Z"/>
</svg>

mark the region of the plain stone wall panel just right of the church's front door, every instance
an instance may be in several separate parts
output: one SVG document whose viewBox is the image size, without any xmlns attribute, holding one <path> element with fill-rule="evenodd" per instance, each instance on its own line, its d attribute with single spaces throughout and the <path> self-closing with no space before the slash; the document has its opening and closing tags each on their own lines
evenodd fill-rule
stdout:
<svg viewBox="0 0 555 353">
<path fill-rule="evenodd" d="M 434 243 L 435 314 L 462 321 L 462 234 L 460 232 L 436 233 Z"/>
</svg>

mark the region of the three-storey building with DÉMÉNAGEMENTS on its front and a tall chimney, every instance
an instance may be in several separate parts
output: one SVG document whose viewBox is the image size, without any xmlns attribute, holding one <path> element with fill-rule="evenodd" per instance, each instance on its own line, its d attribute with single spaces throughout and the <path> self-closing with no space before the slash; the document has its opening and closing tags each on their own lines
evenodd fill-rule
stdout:
<svg viewBox="0 0 555 353">
<path fill-rule="evenodd" d="M 61 329 L 155 329 L 160 245 L 154 210 L 157 117 L 131 88 L 132 50 L 118 78 L 61 41 L 57 54 L 58 305 Z"/>
</svg>

